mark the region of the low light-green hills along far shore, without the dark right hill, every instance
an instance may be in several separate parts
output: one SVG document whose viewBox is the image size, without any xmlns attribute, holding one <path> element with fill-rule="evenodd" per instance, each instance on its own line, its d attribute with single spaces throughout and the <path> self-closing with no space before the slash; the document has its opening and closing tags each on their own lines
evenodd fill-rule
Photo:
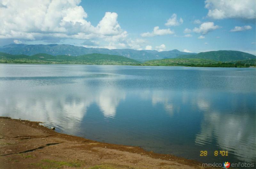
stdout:
<svg viewBox="0 0 256 169">
<path fill-rule="evenodd" d="M 192 55 L 194 57 L 195 55 Z M 256 59 L 220 62 L 210 59 L 173 58 L 149 60 L 144 63 L 118 55 L 88 54 L 81 56 L 36 54 L 11 55 L 0 52 L 0 63 L 44 63 L 44 64 L 99 64 L 142 66 L 192 66 L 192 67 L 249 67 L 256 66 Z"/>
</svg>

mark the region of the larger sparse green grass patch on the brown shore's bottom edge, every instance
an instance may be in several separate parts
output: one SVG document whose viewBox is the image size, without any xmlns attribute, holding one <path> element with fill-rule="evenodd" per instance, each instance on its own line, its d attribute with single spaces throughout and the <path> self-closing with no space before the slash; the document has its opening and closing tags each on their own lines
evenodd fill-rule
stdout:
<svg viewBox="0 0 256 169">
<path fill-rule="evenodd" d="M 36 165 L 37 167 L 48 169 L 48 168 L 61 168 L 63 166 L 69 167 L 81 167 L 80 163 L 77 162 L 68 162 L 68 161 L 55 161 L 50 159 L 41 160 L 40 163 L 33 163 L 31 165 Z"/>
</svg>

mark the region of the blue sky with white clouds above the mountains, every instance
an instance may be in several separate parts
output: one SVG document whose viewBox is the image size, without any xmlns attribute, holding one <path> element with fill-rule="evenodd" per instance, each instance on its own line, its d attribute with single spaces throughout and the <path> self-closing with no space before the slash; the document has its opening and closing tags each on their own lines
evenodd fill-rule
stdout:
<svg viewBox="0 0 256 169">
<path fill-rule="evenodd" d="M 256 55 L 255 0 L 0 0 L 0 46 L 70 44 Z"/>
</svg>

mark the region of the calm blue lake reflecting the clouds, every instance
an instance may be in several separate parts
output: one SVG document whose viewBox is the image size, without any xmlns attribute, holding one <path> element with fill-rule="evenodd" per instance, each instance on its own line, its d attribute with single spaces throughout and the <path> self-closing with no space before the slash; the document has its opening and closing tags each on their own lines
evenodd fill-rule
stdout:
<svg viewBox="0 0 256 169">
<path fill-rule="evenodd" d="M 0 116 L 203 163 L 255 163 L 255 114 L 255 68 L 0 64 Z"/>
</svg>

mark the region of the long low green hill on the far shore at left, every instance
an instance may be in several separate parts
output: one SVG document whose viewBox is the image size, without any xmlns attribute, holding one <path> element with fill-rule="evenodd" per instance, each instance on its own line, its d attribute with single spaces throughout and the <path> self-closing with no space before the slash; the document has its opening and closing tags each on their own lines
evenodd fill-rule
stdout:
<svg viewBox="0 0 256 169">
<path fill-rule="evenodd" d="M 36 54 L 10 55 L 0 53 L 0 63 L 46 63 L 46 64 L 104 64 L 104 65 L 139 65 L 140 62 L 118 55 L 88 54 L 81 56 Z"/>
</svg>

